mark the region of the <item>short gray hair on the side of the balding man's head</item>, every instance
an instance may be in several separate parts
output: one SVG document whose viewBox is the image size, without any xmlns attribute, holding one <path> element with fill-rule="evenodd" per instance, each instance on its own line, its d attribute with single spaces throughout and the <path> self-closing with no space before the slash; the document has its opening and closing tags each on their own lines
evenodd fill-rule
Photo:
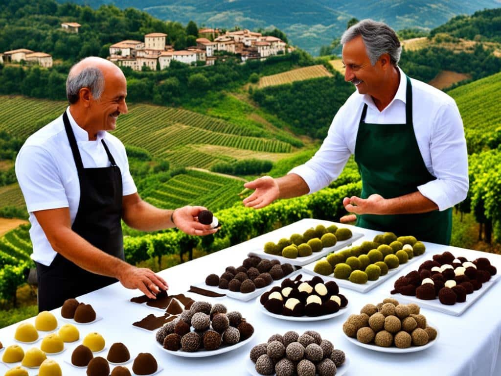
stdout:
<svg viewBox="0 0 501 376">
<path fill-rule="evenodd" d="M 104 90 L 104 75 L 99 68 L 88 67 L 82 69 L 78 74 L 72 73 L 73 68 L 66 80 L 66 96 L 70 104 L 78 102 L 78 93 L 82 88 L 88 88 L 95 99 L 101 98 Z"/>
</svg>

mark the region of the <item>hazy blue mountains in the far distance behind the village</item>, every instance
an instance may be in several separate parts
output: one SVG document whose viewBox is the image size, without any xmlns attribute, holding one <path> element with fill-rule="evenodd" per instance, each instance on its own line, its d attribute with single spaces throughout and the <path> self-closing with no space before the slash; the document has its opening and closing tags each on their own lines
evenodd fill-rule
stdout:
<svg viewBox="0 0 501 376">
<path fill-rule="evenodd" d="M 67 0 L 58 0 L 63 3 Z M 230 29 L 235 26 L 249 30 L 277 27 L 290 42 L 312 55 L 329 45 L 355 17 L 372 18 L 389 24 L 395 30 L 419 28 L 429 30 L 459 14 L 501 7 L 501 0 L 73 0 L 97 8 L 114 4 L 133 7 L 161 20 L 198 26 Z"/>
</svg>

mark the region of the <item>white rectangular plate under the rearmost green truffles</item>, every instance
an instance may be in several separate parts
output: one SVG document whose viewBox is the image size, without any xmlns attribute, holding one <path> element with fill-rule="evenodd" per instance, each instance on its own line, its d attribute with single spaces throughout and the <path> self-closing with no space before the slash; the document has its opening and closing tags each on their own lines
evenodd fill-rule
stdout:
<svg viewBox="0 0 501 376">
<path fill-rule="evenodd" d="M 291 226 L 297 225 L 300 222 L 296 222 L 295 224 L 293 224 Z M 324 225 L 325 227 L 329 226 L 329 225 L 325 224 L 325 221 L 323 221 L 323 223 L 319 222 L 318 224 Z M 331 224 L 335 225 L 334 222 L 331 222 Z M 308 229 L 308 228 L 305 228 L 304 225 L 303 226 L 296 226 L 296 228 L 298 228 L 298 231 L 290 232 L 292 229 L 289 228 L 287 233 L 284 233 L 282 231 L 284 228 L 272 231 L 271 233 L 266 234 L 266 239 L 269 239 L 269 240 L 267 240 L 265 243 L 267 243 L 267 242 L 277 243 L 281 238 L 289 238 L 292 234 L 304 233 Z M 303 230 L 301 231 L 301 229 L 303 229 Z M 279 233 L 281 233 L 283 235 L 281 236 L 281 235 L 279 235 Z M 341 248 L 351 246 L 353 242 L 355 242 L 356 240 L 363 238 L 363 237 L 364 237 L 364 234 L 356 232 L 356 231 L 355 232 L 352 231 L 352 237 L 350 239 L 339 241 L 332 247 L 322 248 L 319 252 L 313 252 L 310 256 L 297 257 L 295 259 L 289 259 L 287 257 L 270 255 L 269 253 L 265 253 L 265 251 L 264 251 L 265 243 L 263 243 L 263 245 L 260 248 L 255 249 L 253 251 L 250 251 L 249 256 L 251 256 L 251 255 L 252 256 L 259 256 L 259 257 L 264 258 L 264 259 L 277 259 L 282 264 L 289 263 L 291 265 L 303 266 L 303 265 L 310 264 L 312 261 L 321 259 L 322 257 L 328 255 L 329 253 L 340 250 Z"/>
</svg>

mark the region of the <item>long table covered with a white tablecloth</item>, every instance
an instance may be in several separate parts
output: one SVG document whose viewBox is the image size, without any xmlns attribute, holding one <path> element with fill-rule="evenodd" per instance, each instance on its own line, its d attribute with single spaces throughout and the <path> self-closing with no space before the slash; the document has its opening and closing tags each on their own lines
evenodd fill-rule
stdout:
<svg viewBox="0 0 501 376">
<path fill-rule="evenodd" d="M 327 223 L 319 220 L 303 220 L 305 226 L 308 224 Z M 342 225 L 350 227 L 347 225 Z M 364 240 L 372 240 L 378 233 L 371 230 L 351 227 L 355 231 L 363 232 L 364 238 L 354 244 L 359 244 Z M 494 284 L 487 290 L 466 312 L 455 317 L 434 310 L 421 308 L 427 320 L 437 327 L 440 337 L 433 346 L 413 353 L 383 353 L 362 348 L 351 343 L 342 331 L 343 322 L 352 313 L 359 313 L 360 309 L 367 303 L 376 304 L 385 297 L 390 297 L 395 278 L 391 278 L 373 290 L 362 294 L 346 288 L 340 288 L 349 304 L 347 312 L 341 316 L 330 320 L 314 322 L 292 322 L 269 317 L 259 311 L 256 300 L 242 302 L 228 297 L 208 298 L 197 294 L 186 293 L 190 285 L 203 281 L 210 273 L 220 274 L 224 267 L 228 265 L 239 266 L 247 253 L 263 244 L 266 235 L 250 239 L 241 244 L 229 247 L 219 252 L 177 265 L 163 270 L 159 274 L 169 283 L 171 294 L 184 293 L 195 300 L 205 300 L 212 304 L 222 303 L 226 305 L 228 311 L 237 310 L 254 325 L 255 335 L 252 342 L 239 349 L 205 358 L 183 358 L 173 356 L 164 352 L 155 342 L 155 332 L 147 332 L 132 326 L 132 323 L 139 321 L 149 313 L 156 316 L 161 314 L 158 309 L 145 305 L 134 304 L 130 298 L 140 295 L 139 290 L 127 290 L 121 284 L 116 283 L 98 291 L 78 297 L 79 301 L 90 303 L 95 308 L 98 316 L 103 319 L 91 325 L 78 325 L 81 338 L 76 344 L 69 344 L 67 350 L 59 355 L 49 355 L 49 358 L 56 360 L 63 369 L 64 375 L 85 375 L 85 369 L 77 369 L 67 364 L 64 360 L 71 359 L 71 353 L 77 344 L 80 344 L 83 337 L 89 332 L 97 331 L 106 340 L 106 347 L 114 342 L 123 342 L 129 348 L 132 357 L 139 352 L 150 352 L 155 356 L 159 365 L 164 368 L 160 374 L 164 375 L 245 375 L 245 362 L 250 349 L 259 343 L 266 342 L 274 333 L 285 333 L 288 330 L 296 330 L 300 334 L 306 330 L 316 330 L 323 338 L 333 342 L 335 348 L 339 348 L 346 353 L 350 359 L 350 366 L 347 375 L 398 375 L 414 376 L 424 375 L 432 372 L 434 374 L 449 376 L 487 376 L 501 375 L 501 350 L 499 341 L 501 338 L 501 285 Z M 447 247 L 437 244 L 425 243 L 425 258 L 430 259 L 436 253 L 446 250 L 464 255 L 468 260 L 478 257 L 488 258 L 493 265 L 501 272 L 501 256 L 484 252 L 465 250 L 455 247 Z M 416 270 L 419 261 L 414 264 L 403 265 L 399 269 L 400 275 L 405 275 L 411 270 Z M 305 275 L 305 279 L 311 279 Z M 391 296 L 395 297 L 395 296 Z M 398 299 L 398 295 L 397 295 Z M 53 311 L 56 317 L 60 317 L 60 309 Z M 26 321 L 34 323 L 34 318 Z M 59 325 L 65 322 L 60 320 Z M 16 343 L 14 332 L 19 325 L 0 329 L 0 341 L 4 347 Z M 25 351 L 33 346 L 40 346 L 40 342 L 35 345 L 22 345 Z M 99 356 L 106 357 L 107 351 Z M 0 356 L 2 353 L 0 353 Z M 127 364 L 132 372 L 132 362 Z M 113 368 L 113 366 L 111 366 Z M 3 375 L 7 368 L 0 363 L 0 375 Z M 30 376 L 37 374 L 37 370 L 30 370 Z"/>
</svg>

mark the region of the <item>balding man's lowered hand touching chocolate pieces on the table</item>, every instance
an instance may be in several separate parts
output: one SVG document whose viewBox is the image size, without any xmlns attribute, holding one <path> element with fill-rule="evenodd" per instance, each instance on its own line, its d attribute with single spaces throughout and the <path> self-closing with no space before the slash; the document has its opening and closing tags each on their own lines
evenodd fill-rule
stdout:
<svg viewBox="0 0 501 376">
<path fill-rule="evenodd" d="M 150 299 L 155 299 L 160 291 L 168 290 L 164 279 L 146 268 L 128 265 L 118 275 L 120 283 L 128 289 L 139 289 Z"/>
</svg>

